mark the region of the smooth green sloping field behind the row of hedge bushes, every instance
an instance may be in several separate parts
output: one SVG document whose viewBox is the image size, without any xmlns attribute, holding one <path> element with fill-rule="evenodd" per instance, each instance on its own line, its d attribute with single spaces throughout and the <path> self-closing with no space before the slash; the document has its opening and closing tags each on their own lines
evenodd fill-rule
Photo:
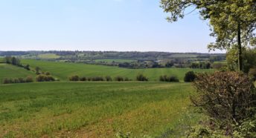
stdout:
<svg viewBox="0 0 256 138">
<path fill-rule="evenodd" d="M 161 75 L 175 75 L 180 81 L 183 81 L 185 73 L 189 70 L 195 72 L 210 72 L 214 70 L 190 69 L 190 68 L 149 68 L 149 69 L 127 69 L 110 67 L 104 65 L 86 65 L 65 62 L 45 62 L 33 59 L 23 59 L 22 64 L 29 64 L 32 68 L 36 66 L 43 71 L 49 71 L 53 76 L 60 80 L 68 80 L 68 76 L 127 76 L 129 79 L 135 79 L 138 73 L 143 73 L 150 81 L 158 81 Z"/>
</svg>

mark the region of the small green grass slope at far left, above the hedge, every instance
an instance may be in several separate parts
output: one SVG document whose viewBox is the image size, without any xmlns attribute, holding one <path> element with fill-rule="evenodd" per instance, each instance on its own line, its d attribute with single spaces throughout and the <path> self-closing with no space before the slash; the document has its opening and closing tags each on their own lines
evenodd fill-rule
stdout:
<svg viewBox="0 0 256 138">
<path fill-rule="evenodd" d="M 35 76 L 35 74 L 24 68 L 0 63 L 0 83 L 2 83 L 4 78 L 25 78 L 27 76 Z"/>
</svg>

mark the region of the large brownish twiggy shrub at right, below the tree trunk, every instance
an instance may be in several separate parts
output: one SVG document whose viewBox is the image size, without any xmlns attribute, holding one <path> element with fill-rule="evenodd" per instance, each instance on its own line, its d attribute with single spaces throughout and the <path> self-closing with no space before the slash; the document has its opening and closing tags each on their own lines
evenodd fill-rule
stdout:
<svg viewBox="0 0 256 138">
<path fill-rule="evenodd" d="M 191 96 L 193 105 L 202 108 L 228 134 L 234 131 L 234 124 L 255 114 L 255 86 L 242 73 L 201 73 L 193 85 L 196 88 L 196 94 Z"/>
</svg>

